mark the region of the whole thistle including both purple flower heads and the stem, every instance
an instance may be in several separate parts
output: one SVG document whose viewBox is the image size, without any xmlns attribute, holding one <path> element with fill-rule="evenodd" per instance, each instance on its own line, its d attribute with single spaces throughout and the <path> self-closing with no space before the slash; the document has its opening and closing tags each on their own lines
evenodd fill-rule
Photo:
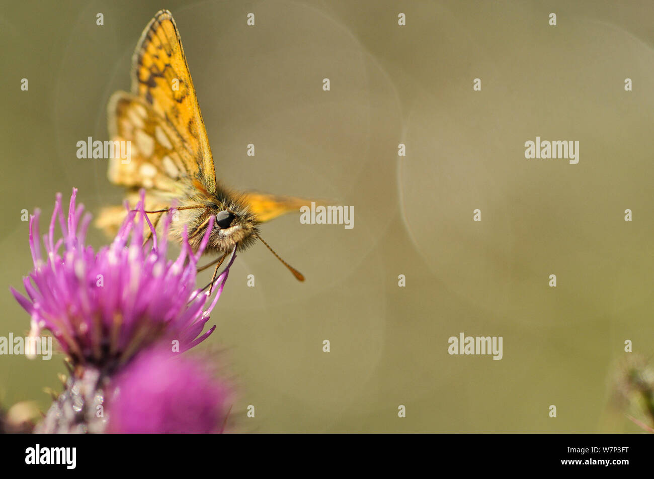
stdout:
<svg viewBox="0 0 654 479">
<path fill-rule="evenodd" d="M 96 253 L 84 244 L 90 215 L 82 217 L 84 206 L 75 204 L 76 195 L 73 189 L 67 218 L 57 195 L 43 237 L 44 255 L 39 211 L 30 217 L 34 269 L 23 280 L 27 297 L 10 288 L 31 316 L 30 335 L 51 331 L 74 366 L 35 431 L 103 433 L 109 427 L 113 432 L 222 432 L 229 388 L 198 359 L 173 357 L 215 329 L 202 333 L 235 258 L 232 254 L 218 276 L 213 300 L 196 288 L 196 266 L 215 218 L 209 219 L 196 252 L 184 228 L 181 253 L 168 260 L 172 213 L 163 215 L 158 239 L 141 191 L 141 201 L 135 210 L 128 208 L 116 238 Z M 144 246 L 146 223 L 152 240 Z"/>
</svg>

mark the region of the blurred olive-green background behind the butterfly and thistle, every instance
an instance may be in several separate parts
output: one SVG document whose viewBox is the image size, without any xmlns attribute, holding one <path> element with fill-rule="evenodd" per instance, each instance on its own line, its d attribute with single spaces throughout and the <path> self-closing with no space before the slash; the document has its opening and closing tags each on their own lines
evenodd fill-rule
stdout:
<svg viewBox="0 0 654 479">
<path fill-rule="evenodd" d="M 262 228 L 304 284 L 261 244 L 235 262 L 202 348 L 236 378 L 239 430 L 640 431 L 608 397 L 626 339 L 654 352 L 650 1 L 5 2 L 0 335 L 29 329 L 9 293 L 31 269 L 21 210 L 44 225 L 74 186 L 94 214 L 120 203 L 107 161 L 76 144 L 107 139 L 107 99 L 129 90 L 160 8 L 218 177 L 354 206 L 351 230 L 298 215 Z M 579 140 L 579 163 L 525 159 L 536 136 Z M 447 354 L 460 331 L 504 337 L 504 358 Z M 45 410 L 60 371 L 61 355 L 0 357 L 0 401 Z"/>
</svg>

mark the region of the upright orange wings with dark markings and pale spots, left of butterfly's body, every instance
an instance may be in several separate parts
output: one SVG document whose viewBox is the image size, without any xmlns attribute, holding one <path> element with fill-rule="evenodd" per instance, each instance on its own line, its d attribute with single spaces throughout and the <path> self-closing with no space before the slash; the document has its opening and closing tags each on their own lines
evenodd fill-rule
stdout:
<svg viewBox="0 0 654 479">
<path fill-rule="evenodd" d="M 107 176 L 133 190 L 145 188 L 146 208 L 158 210 L 215 191 L 216 175 L 207 132 L 175 21 L 161 10 L 146 26 L 132 58 L 131 93 L 109 100 L 109 136 L 129 142 L 129 161 L 109 160 Z M 137 195 L 129 192 L 131 206 Z M 126 216 L 124 206 L 101 210 L 96 225 L 110 235 Z M 158 216 L 158 215 L 157 215 Z M 156 217 L 152 217 L 156 220 Z"/>
</svg>

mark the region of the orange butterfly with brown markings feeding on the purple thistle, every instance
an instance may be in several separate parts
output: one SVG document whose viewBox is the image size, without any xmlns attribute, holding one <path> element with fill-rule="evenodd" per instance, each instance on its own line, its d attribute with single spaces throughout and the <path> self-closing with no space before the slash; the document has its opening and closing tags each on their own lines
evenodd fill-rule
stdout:
<svg viewBox="0 0 654 479">
<path fill-rule="evenodd" d="M 304 280 L 261 238 L 259 225 L 298 211 L 307 201 L 232 190 L 216 180 L 196 91 L 177 25 L 168 10 L 157 12 L 143 31 L 132 57 L 131 93 L 116 91 L 108 112 L 111 140 L 128 141 L 131 153 L 129 161 L 109 159 L 107 176 L 112 183 L 128 188 L 129 205 L 136 205 L 138 191 L 145 188 L 145 209 L 156 227 L 174 203 L 169 236 L 181 242 L 186 228 L 195 251 L 211 216 L 215 217 L 205 252 L 218 254 L 218 258 L 198 269 L 217 263 L 211 286 L 226 256 L 249 248 L 257 239 L 298 280 Z M 124 206 L 103 208 L 96 225 L 107 233 L 115 232 L 126 214 Z"/>
</svg>

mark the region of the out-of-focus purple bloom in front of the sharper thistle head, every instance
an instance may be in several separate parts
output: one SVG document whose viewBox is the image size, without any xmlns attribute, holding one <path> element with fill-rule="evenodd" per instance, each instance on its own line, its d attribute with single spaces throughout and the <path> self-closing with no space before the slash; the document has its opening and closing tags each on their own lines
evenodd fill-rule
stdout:
<svg viewBox="0 0 654 479">
<path fill-rule="evenodd" d="M 220 433 L 230 389 L 194 357 L 166 348 L 137 355 L 112 380 L 108 433 Z"/>
</svg>

